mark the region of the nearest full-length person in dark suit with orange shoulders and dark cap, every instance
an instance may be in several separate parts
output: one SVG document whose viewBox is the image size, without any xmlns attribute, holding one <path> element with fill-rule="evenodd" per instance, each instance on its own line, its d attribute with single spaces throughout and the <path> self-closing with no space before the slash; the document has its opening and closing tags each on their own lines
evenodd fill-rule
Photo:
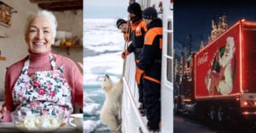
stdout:
<svg viewBox="0 0 256 133">
<path fill-rule="evenodd" d="M 162 57 L 162 20 L 157 17 L 154 8 L 143 11 L 143 20 L 148 31 L 144 37 L 144 46 L 137 63 L 137 83 L 143 77 L 143 102 L 145 104 L 148 130 L 160 130 L 160 79 Z"/>
</svg>

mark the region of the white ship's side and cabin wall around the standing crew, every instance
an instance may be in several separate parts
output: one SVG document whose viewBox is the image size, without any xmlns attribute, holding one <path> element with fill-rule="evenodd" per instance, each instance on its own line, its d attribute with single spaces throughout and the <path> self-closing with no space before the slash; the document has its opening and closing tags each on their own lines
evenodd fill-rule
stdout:
<svg viewBox="0 0 256 133">
<path fill-rule="evenodd" d="M 162 77 L 161 77 L 161 133 L 173 131 L 173 3 L 168 0 L 138 0 L 143 8 L 154 6 L 159 17 L 163 20 L 163 49 L 162 49 Z M 160 7 L 162 3 L 162 7 Z M 122 133 L 149 133 L 147 119 L 142 117 L 137 107 L 138 91 L 135 81 L 136 65 L 133 53 L 126 58 L 124 92 L 122 103 Z"/>
</svg>

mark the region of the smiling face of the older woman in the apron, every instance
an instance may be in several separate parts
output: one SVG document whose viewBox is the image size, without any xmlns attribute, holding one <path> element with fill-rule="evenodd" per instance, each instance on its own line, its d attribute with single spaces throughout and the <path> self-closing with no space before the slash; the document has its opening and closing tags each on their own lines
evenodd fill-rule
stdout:
<svg viewBox="0 0 256 133">
<path fill-rule="evenodd" d="M 42 16 L 30 21 L 26 31 L 26 43 L 32 53 L 48 52 L 54 42 L 55 37 L 48 19 Z"/>
</svg>

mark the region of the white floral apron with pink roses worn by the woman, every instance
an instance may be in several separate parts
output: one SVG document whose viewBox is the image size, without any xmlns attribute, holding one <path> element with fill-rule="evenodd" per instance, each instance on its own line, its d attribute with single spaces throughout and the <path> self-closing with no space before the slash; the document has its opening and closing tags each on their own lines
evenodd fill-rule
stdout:
<svg viewBox="0 0 256 133">
<path fill-rule="evenodd" d="M 67 121 L 67 116 L 73 112 L 71 89 L 62 73 L 63 66 L 56 69 L 51 55 L 49 61 L 53 70 L 28 75 L 27 58 L 13 89 L 15 112 L 22 116 L 64 114 L 63 119 Z"/>
</svg>

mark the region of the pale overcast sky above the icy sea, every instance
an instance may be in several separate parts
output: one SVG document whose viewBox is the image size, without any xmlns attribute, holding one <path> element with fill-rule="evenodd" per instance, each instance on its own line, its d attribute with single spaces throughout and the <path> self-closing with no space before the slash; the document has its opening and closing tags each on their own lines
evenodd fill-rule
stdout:
<svg viewBox="0 0 256 133">
<path fill-rule="evenodd" d="M 84 0 L 84 19 L 127 18 L 128 0 Z"/>
</svg>

